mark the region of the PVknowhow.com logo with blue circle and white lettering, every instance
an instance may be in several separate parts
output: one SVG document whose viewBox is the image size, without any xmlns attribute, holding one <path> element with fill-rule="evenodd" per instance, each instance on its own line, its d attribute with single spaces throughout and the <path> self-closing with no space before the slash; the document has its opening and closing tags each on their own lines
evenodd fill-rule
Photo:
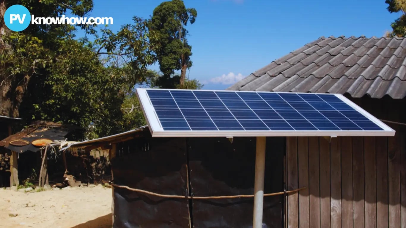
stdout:
<svg viewBox="0 0 406 228">
<path fill-rule="evenodd" d="M 71 24 L 71 25 L 101 25 L 113 24 L 112 17 L 35 17 L 25 6 L 10 6 L 4 13 L 4 24 L 15 32 L 20 32 L 28 27 L 29 24 Z"/>
</svg>

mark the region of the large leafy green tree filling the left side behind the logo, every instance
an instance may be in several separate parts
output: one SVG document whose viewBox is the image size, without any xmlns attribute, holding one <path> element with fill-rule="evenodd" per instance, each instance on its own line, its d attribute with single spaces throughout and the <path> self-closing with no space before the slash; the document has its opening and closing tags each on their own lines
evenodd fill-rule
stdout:
<svg viewBox="0 0 406 228">
<path fill-rule="evenodd" d="M 41 17 L 66 11 L 84 16 L 93 7 L 91 0 L 19 3 Z M 0 115 L 74 124 L 97 136 L 121 131 L 123 99 L 146 80 L 147 67 L 156 60 L 147 21 L 134 17 L 117 33 L 82 27 L 96 36 L 94 42 L 75 39 L 74 26 L 31 25 L 23 32 L 1 26 Z"/>
</svg>

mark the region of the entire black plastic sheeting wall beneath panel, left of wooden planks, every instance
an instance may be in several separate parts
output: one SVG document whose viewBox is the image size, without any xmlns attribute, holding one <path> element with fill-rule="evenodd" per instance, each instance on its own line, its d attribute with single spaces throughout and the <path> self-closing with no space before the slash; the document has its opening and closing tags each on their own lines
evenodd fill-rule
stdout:
<svg viewBox="0 0 406 228">
<path fill-rule="evenodd" d="M 137 138 L 117 144 L 114 183 L 168 195 L 251 195 L 255 145 L 255 138 Z M 284 153 L 285 138 L 267 138 L 265 193 L 283 191 Z M 263 207 L 263 228 L 283 227 L 283 195 L 265 197 Z M 113 228 L 190 224 L 252 228 L 253 198 L 170 199 L 114 188 Z"/>
</svg>

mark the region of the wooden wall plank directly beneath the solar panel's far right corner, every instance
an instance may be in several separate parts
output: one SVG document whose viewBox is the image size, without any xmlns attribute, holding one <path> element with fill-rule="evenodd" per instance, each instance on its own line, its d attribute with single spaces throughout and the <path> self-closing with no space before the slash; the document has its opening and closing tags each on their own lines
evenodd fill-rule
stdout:
<svg viewBox="0 0 406 228">
<path fill-rule="evenodd" d="M 388 195 L 389 227 L 400 227 L 400 132 L 395 128 L 394 137 L 388 137 Z"/>
</svg>

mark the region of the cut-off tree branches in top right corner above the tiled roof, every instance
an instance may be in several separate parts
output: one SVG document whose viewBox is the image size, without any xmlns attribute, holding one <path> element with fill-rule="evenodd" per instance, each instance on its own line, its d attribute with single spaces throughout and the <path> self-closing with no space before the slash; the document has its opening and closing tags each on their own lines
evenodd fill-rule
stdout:
<svg viewBox="0 0 406 228">
<path fill-rule="evenodd" d="M 388 34 L 389 37 L 405 37 L 406 36 L 406 0 L 386 0 L 385 3 L 389 4 L 387 7 L 390 13 L 401 12 L 399 18 L 392 22 L 392 32 Z"/>
</svg>

